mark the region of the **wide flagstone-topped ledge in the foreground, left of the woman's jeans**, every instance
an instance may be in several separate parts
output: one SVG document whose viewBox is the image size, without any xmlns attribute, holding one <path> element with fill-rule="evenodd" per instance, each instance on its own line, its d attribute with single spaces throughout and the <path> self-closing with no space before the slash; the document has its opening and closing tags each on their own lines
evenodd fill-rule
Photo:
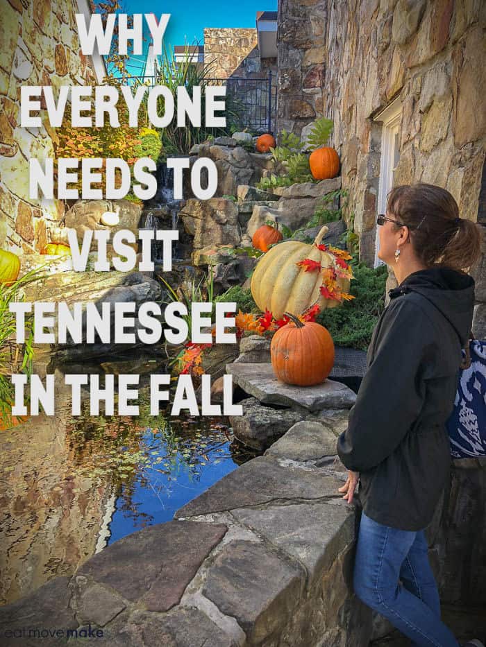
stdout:
<svg viewBox="0 0 486 647">
<path fill-rule="evenodd" d="M 124 537 L 0 619 L 103 628 L 110 647 L 364 646 L 369 611 L 349 592 L 353 508 L 339 480 L 291 463 L 254 458 L 176 512 L 191 519 Z"/>
</svg>

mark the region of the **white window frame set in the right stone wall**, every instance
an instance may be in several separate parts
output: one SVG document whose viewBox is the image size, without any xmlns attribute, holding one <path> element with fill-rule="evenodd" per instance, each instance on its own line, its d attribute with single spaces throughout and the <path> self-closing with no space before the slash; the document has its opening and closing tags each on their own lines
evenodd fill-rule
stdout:
<svg viewBox="0 0 486 647">
<path fill-rule="evenodd" d="M 394 167 L 395 159 L 395 139 L 396 135 L 400 137 L 402 105 L 400 97 L 397 97 L 385 110 L 382 110 L 374 117 L 374 121 L 382 123 L 381 129 L 381 157 L 380 157 L 380 178 L 378 182 L 378 214 L 384 214 L 387 209 L 387 194 L 393 187 L 393 174 L 396 170 Z M 376 225 L 375 234 L 375 261 L 374 267 L 384 265 L 383 261 L 378 258 L 378 246 L 380 238 L 378 236 L 378 225 Z"/>
</svg>

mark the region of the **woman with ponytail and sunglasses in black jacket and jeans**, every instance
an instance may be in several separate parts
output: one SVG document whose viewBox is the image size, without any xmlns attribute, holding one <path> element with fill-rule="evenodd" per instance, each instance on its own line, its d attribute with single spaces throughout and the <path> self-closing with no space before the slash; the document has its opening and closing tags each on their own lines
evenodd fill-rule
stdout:
<svg viewBox="0 0 486 647">
<path fill-rule="evenodd" d="M 451 193 L 431 184 L 392 189 L 378 225 L 378 257 L 399 286 L 389 291 L 337 442 L 349 469 L 340 492 L 349 503 L 360 483 L 354 589 L 414 646 L 458 647 L 440 619 L 424 528 L 450 474 L 444 423 L 474 308 L 474 279 L 462 269 L 478 259 L 480 234 L 459 218 Z"/>
</svg>

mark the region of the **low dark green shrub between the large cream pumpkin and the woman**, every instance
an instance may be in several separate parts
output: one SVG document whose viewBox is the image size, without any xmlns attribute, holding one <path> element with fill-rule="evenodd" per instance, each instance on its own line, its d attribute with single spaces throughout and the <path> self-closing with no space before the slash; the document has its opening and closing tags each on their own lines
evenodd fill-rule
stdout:
<svg viewBox="0 0 486 647">
<path fill-rule="evenodd" d="M 385 307 L 387 267 L 369 268 L 355 259 L 351 267 L 355 280 L 351 281 L 350 293 L 355 299 L 341 308 L 321 311 L 317 321 L 328 329 L 336 345 L 367 350 Z"/>
</svg>

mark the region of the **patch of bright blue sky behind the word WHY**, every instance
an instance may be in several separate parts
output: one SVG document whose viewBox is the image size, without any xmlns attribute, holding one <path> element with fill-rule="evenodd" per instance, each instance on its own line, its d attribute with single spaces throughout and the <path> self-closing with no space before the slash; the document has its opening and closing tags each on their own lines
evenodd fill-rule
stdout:
<svg viewBox="0 0 486 647">
<path fill-rule="evenodd" d="M 123 0 L 126 13 L 169 13 L 167 46 L 203 43 L 205 27 L 254 27 L 257 11 L 276 11 L 277 0 Z"/>
</svg>

